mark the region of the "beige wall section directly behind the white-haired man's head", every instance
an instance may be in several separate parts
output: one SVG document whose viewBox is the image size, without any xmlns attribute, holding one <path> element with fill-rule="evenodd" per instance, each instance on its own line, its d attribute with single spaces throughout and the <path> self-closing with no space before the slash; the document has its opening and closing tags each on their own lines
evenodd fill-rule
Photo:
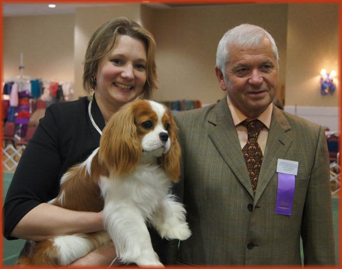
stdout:
<svg viewBox="0 0 342 269">
<path fill-rule="evenodd" d="M 240 23 L 266 28 L 278 43 L 280 85 L 285 81 L 287 5 L 215 5 L 172 8 L 154 13 L 160 90 L 157 100 L 199 99 L 214 103 L 226 92 L 215 76 L 219 40 Z"/>
</svg>

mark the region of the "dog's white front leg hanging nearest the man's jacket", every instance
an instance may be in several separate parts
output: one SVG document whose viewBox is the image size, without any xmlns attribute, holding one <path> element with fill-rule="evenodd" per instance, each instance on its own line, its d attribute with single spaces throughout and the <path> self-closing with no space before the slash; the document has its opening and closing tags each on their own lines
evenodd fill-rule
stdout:
<svg viewBox="0 0 342 269">
<path fill-rule="evenodd" d="M 168 195 L 160 202 L 151 222 L 162 238 L 186 240 L 191 236 L 191 230 L 186 222 L 186 210 L 175 197 Z"/>
</svg>

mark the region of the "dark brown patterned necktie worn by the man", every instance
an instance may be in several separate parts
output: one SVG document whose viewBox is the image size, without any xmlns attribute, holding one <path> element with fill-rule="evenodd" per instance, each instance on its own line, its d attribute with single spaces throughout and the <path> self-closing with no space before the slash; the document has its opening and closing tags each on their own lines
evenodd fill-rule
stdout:
<svg viewBox="0 0 342 269">
<path fill-rule="evenodd" d="M 252 188 L 255 192 L 262 162 L 262 151 L 257 143 L 257 137 L 264 124 L 257 119 L 252 121 L 244 120 L 241 124 L 247 127 L 248 140 L 247 144 L 242 148 L 242 152 L 243 157 L 245 157 Z"/>
</svg>

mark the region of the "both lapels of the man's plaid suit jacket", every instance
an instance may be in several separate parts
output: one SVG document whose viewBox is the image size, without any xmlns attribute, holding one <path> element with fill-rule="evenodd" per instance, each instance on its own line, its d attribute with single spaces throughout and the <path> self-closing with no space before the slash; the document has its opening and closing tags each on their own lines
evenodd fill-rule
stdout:
<svg viewBox="0 0 342 269">
<path fill-rule="evenodd" d="M 277 107 L 273 108 L 270 132 L 255 194 L 252 190 L 245 159 L 226 98 L 223 98 L 215 106 L 208 117 L 208 122 L 215 125 L 214 130 L 209 133 L 209 137 L 217 151 L 235 174 L 235 177 L 254 197 L 254 204 L 256 204 L 277 171 L 278 158 L 285 158 L 292 144 L 292 139 L 286 134 L 291 129 L 287 119 Z"/>
</svg>

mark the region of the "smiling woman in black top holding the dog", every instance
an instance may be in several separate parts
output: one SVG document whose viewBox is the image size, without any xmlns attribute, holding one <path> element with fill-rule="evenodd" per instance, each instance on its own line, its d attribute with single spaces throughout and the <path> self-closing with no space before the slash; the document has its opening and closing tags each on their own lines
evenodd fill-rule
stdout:
<svg viewBox="0 0 342 269">
<path fill-rule="evenodd" d="M 64 172 L 99 146 L 110 116 L 129 101 L 151 97 L 156 89 L 155 49 L 150 32 L 127 18 L 106 22 L 95 31 L 83 74 L 85 91 L 95 93 L 47 108 L 6 195 L 7 239 L 39 241 L 103 229 L 102 212 L 72 211 L 46 202 L 57 196 Z M 113 247 L 102 247 L 75 265 L 109 265 L 114 257 Z"/>
</svg>

